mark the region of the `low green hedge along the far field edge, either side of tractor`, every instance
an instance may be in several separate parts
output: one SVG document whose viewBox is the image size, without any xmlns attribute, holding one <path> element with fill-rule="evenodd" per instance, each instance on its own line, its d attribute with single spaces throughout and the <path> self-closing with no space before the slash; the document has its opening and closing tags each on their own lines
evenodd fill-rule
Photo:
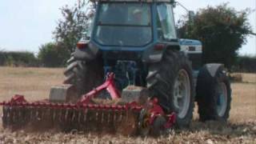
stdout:
<svg viewBox="0 0 256 144">
<path fill-rule="evenodd" d="M 0 66 L 65 66 L 69 54 L 61 46 L 47 44 L 41 47 L 38 58 L 32 52 L 27 51 L 0 51 Z M 256 56 L 239 56 L 232 71 L 256 73 Z"/>
</svg>

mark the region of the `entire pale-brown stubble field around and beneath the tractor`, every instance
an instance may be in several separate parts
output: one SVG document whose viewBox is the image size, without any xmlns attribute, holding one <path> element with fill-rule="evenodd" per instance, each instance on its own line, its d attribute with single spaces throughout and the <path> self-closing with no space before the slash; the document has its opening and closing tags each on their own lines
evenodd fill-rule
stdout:
<svg viewBox="0 0 256 144">
<path fill-rule="evenodd" d="M 14 94 L 26 99 L 48 98 L 50 86 L 62 83 L 64 69 L 0 67 L 0 102 Z M 2 129 L 1 143 L 256 143 L 256 74 L 242 74 L 243 82 L 232 83 L 230 119 L 223 122 L 198 122 L 195 108 L 194 121 L 189 129 L 173 130 L 159 138 L 128 137 L 122 135 L 44 133 L 23 130 L 11 132 Z M 2 114 L 2 108 L 1 112 Z"/>
</svg>

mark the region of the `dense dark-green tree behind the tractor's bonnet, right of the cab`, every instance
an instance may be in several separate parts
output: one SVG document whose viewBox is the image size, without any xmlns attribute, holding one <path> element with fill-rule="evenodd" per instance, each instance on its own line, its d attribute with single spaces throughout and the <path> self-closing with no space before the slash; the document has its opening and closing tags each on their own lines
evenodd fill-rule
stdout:
<svg viewBox="0 0 256 144">
<path fill-rule="evenodd" d="M 202 41 L 203 63 L 220 62 L 230 68 L 250 34 L 248 14 L 248 9 L 237 11 L 227 4 L 208 6 L 198 11 L 193 22 L 183 20 L 179 35 Z"/>
</svg>

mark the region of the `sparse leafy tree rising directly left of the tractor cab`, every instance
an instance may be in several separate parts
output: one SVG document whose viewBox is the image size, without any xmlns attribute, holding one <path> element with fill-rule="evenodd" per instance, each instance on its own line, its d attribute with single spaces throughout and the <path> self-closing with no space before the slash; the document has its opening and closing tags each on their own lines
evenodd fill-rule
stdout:
<svg viewBox="0 0 256 144">
<path fill-rule="evenodd" d="M 63 18 L 58 20 L 58 26 L 53 34 L 58 46 L 62 46 L 62 49 L 66 49 L 70 54 L 82 38 L 82 34 L 89 28 L 90 18 L 94 14 L 89 2 L 79 0 L 74 6 L 63 6 L 60 9 Z"/>
</svg>

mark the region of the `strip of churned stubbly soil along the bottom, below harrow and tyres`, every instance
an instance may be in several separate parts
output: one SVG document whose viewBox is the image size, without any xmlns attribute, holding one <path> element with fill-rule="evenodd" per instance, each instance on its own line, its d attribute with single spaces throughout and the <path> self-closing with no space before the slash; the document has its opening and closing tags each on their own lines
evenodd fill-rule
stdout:
<svg viewBox="0 0 256 144">
<path fill-rule="evenodd" d="M 56 131 L 27 133 L 24 130 L 11 132 L 0 130 L 0 143 L 254 143 L 256 122 L 220 123 L 193 122 L 188 130 L 172 130 L 158 138 L 123 136 L 120 134 L 68 134 Z"/>
</svg>

